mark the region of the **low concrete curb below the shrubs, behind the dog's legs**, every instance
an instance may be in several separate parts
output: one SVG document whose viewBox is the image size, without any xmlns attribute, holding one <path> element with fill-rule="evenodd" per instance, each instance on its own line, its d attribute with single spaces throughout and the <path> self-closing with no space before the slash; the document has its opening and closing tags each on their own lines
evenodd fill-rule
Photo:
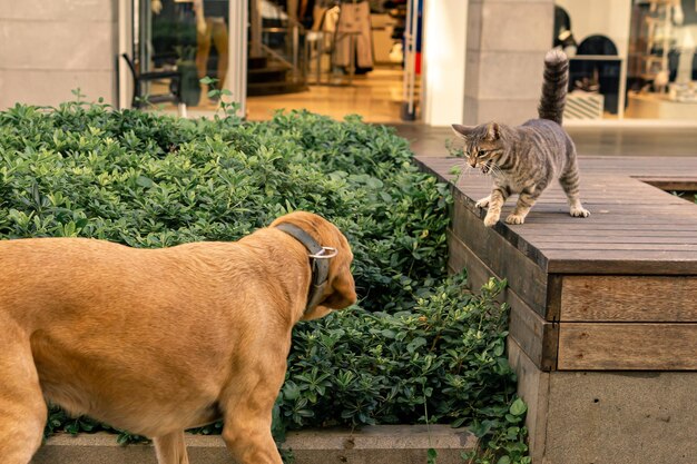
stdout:
<svg viewBox="0 0 697 464">
<path fill-rule="evenodd" d="M 230 464 L 219 436 L 187 435 L 192 464 Z M 461 464 L 461 453 L 477 447 L 465 428 L 448 425 L 381 425 L 361 431 L 322 430 L 288 433 L 283 446 L 292 450 L 295 464 L 423 464 L 426 452 L 438 452 L 439 464 Z M 51 437 L 31 464 L 157 464 L 151 445 L 119 446 L 105 433 Z"/>
</svg>

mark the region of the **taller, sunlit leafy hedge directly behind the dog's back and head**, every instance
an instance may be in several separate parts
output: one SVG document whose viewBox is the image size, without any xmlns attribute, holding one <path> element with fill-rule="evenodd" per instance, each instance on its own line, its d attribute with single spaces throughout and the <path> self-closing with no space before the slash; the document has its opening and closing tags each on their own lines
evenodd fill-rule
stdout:
<svg viewBox="0 0 697 464">
<path fill-rule="evenodd" d="M 445 186 L 404 140 L 357 118 L 192 121 L 65 105 L 0 113 L 0 236 L 86 236 L 135 247 L 236 240 L 307 209 L 354 244 L 370 309 L 401 307 L 445 267 Z M 393 293 L 394 292 L 394 293 Z"/>
</svg>

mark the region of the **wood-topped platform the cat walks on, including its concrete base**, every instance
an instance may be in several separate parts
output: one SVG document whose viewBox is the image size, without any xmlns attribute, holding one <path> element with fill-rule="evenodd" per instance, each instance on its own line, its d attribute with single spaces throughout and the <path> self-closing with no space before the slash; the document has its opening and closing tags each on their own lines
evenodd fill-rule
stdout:
<svg viewBox="0 0 697 464">
<path fill-rule="evenodd" d="M 420 162 L 443 180 L 464 164 Z M 533 463 L 694 463 L 697 206 L 649 184 L 691 186 L 697 158 L 579 162 L 587 219 L 569 217 L 554 185 L 524 225 L 487 228 L 474 204 L 491 179 L 462 176 L 449 267 L 467 268 L 473 288 L 508 279 L 509 359 Z"/>
</svg>

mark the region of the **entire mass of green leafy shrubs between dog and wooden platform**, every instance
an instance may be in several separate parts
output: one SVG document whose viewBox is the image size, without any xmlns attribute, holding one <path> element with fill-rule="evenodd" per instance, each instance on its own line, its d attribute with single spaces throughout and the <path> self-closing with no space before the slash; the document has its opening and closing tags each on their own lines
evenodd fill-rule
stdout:
<svg viewBox="0 0 697 464">
<path fill-rule="evenodd" d="M 16 106 L 0 112 L 0 237 L 164 247 L 236 240 L 291 210 L 317 213 L 352 244 L 361 300 L 296 327 L 275 431 L 429 421 L 507 433 L 516 384 L 499 286 L 473 295 L 446 277 L 449 188 L 411 156 L 393 129 L 359 117 L 242 122 Z M 100 427 L 59 409 L 48 424 Z"/>
</svg>

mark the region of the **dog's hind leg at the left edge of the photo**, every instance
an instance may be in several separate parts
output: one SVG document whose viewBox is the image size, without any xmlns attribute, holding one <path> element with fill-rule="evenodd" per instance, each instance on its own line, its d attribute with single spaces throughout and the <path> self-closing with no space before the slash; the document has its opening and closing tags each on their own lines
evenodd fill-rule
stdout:
<svg viewBox="0 0 697 464">
<path fill-rule="evenodd" d="M 10 324 L 0 327 L 0 461 L 27 464 L 41 445 L 46 402 L 29 340 Z"/>
</svg>

